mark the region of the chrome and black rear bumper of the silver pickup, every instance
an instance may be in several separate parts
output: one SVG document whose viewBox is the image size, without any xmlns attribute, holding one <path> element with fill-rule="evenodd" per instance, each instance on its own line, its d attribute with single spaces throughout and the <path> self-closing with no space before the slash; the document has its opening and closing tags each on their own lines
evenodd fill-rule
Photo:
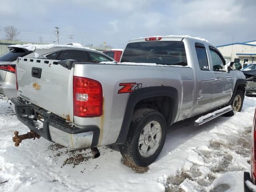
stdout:
<svg viewBox="0 0 256 192">
<path fill-rule="evenodd" d="M 12 98 L 11 102 L 18 120 L 49 141 L 73 149 L 95 147 L 98 144 L 100 129 L 97 126 L 78 128 L 60 116 L 21 98 Z"/>
</svg>

